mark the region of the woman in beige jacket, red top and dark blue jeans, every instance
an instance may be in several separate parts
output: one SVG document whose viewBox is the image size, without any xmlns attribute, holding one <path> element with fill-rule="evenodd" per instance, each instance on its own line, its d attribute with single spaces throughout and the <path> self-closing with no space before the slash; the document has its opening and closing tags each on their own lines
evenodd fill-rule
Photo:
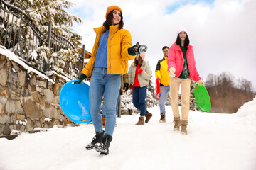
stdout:
<svg viewBox="0 0 256 170">
<path fill-rule="evenodd" d="M 139 109 L 140 117 L 139 121 L 135 125 L 144 125 L 148 123 L 152 114 L 146 111 L 146 89 L 149 85 L 149 79 L 151 79 L 151 70 L 149 65 L 146 63 L 145 53 L 137 55 L 129 67 L 129 84 L 132 84 L 132 103 Z"/>
</svg>

